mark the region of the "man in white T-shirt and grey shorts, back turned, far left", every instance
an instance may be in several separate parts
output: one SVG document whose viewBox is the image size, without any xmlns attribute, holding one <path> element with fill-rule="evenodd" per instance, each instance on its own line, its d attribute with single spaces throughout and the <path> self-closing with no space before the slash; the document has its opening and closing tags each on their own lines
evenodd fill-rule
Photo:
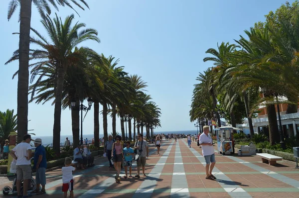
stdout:
<svg viewBox="0 0 299 198">
<path fill-rule="evenodd" d="M 17 144 L 10 155 L 16 160 L 16 190 L 18 198 L 27 198 L 28 182 L 31 179 L 31 162 L 32 150 L 30 146 L 31 135 L 24 135 L 23 141 Z M 17 154 L 17 156 L 15 155 Z M 21 195 L 21 181 L 23 180 L 23 195 Z"/>
</svg>

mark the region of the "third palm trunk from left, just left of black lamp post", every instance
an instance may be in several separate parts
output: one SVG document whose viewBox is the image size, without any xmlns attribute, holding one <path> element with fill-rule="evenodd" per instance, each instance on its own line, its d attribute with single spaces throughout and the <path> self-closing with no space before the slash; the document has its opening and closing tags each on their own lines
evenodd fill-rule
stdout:
<svg viewBox="0 0 299 198">
<path fill-rule="evenodd" d="M 76 99 L 76 105 L 74 109 L 72 108 L 72 132 L 73 132 L 73 148 L 76 148 L 80 143 L 80 132 L 79 132 L 79 123 L 80 123 L 80 112 L 79 112 L 79 99 Z"/>
</svg>

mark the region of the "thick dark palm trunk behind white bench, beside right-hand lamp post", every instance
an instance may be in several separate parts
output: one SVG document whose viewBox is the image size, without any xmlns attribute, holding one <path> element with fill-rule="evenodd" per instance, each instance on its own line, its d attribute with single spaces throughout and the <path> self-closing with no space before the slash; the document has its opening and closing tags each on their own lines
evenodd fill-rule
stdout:
<svg viewBox="0 0 299 198">
<path fill-rule="evenodd" d="M 274 145 L 275 143 L 279 142 L 280 139 L 275 104 L 267 105 L 266 108 L 267 108 L 268 122 L 269 122 L 270 144 Z"/>
</svg>

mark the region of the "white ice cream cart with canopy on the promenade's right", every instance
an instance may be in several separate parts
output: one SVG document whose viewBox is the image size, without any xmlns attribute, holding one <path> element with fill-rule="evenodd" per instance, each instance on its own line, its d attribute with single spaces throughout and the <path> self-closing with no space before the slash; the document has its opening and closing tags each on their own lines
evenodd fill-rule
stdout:
<svg viewBox="0 0 299 198">
<path fill-rule="evenodd" d="M 234 130 L 241 131 L 242 129 L 238 129 L 232 126 L 222 126 L 219 128 L 215 128 L 218 153 L 222 155 L 233 154 L 233 141 L 231 133 L 233 133 Z"/>
</svg>

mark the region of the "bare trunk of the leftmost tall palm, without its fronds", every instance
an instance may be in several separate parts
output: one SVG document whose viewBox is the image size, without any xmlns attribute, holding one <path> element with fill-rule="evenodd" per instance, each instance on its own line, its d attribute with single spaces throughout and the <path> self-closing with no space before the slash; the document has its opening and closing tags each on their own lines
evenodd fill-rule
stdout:
<svg viewBox="0 0 299 198">
<path fill-rule="evenodd" d="M 17 81 L 17 143 L 28 131 L 29 43 L 31 0 L 20 1 L 19 69 Z"/>
</svg>

